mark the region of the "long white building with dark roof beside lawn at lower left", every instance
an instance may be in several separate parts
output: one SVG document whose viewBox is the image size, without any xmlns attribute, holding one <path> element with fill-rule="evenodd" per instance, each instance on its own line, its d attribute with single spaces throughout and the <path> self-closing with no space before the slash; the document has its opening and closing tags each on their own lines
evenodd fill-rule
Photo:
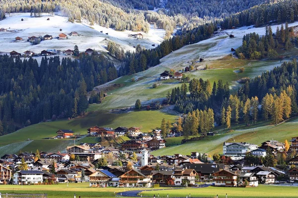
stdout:
<svg viewBox="0 0 298 198">
<path fill-rule="evenodd" d="M 21 170 L 13 174 L 13 184 L 38 184 L 42 183 L 43 172 L 36 170 Z"/>
</svg>

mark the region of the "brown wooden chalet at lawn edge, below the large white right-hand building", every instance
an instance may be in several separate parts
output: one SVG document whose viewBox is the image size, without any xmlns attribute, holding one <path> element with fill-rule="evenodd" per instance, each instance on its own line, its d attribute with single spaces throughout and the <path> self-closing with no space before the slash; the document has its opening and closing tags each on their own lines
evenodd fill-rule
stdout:
<svg viewBox="0 0 298 198">
<path fill-rule="evenodd" d="M 215 182 L 215 186 L 227 186 L 227 187 L 235 187 L 237 186 L 237 172 L 232 172 L 228 170 L 220 170 L 213 174 L 213 181 Z"/>
</svg>

